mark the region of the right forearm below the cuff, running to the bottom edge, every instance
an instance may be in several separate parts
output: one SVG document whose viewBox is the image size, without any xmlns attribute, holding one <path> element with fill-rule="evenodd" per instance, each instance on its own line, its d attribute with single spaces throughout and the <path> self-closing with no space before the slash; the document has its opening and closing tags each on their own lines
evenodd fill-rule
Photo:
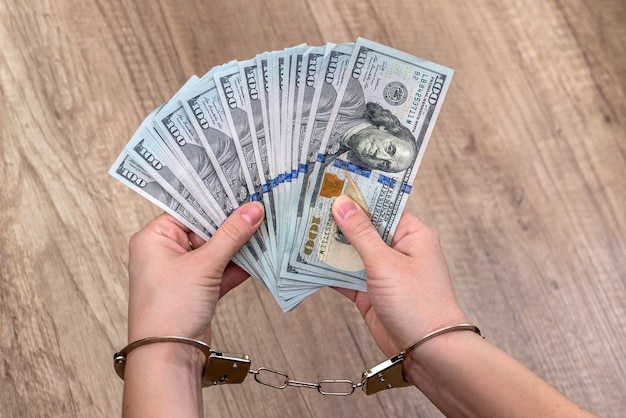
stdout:
<svg viewBox="0 0 626 418">
<path fill-rule="evenodd" d="M 404 372 L 446 416 L 593 416 L 472 332 L 417 347 Z"/>
</svg>

